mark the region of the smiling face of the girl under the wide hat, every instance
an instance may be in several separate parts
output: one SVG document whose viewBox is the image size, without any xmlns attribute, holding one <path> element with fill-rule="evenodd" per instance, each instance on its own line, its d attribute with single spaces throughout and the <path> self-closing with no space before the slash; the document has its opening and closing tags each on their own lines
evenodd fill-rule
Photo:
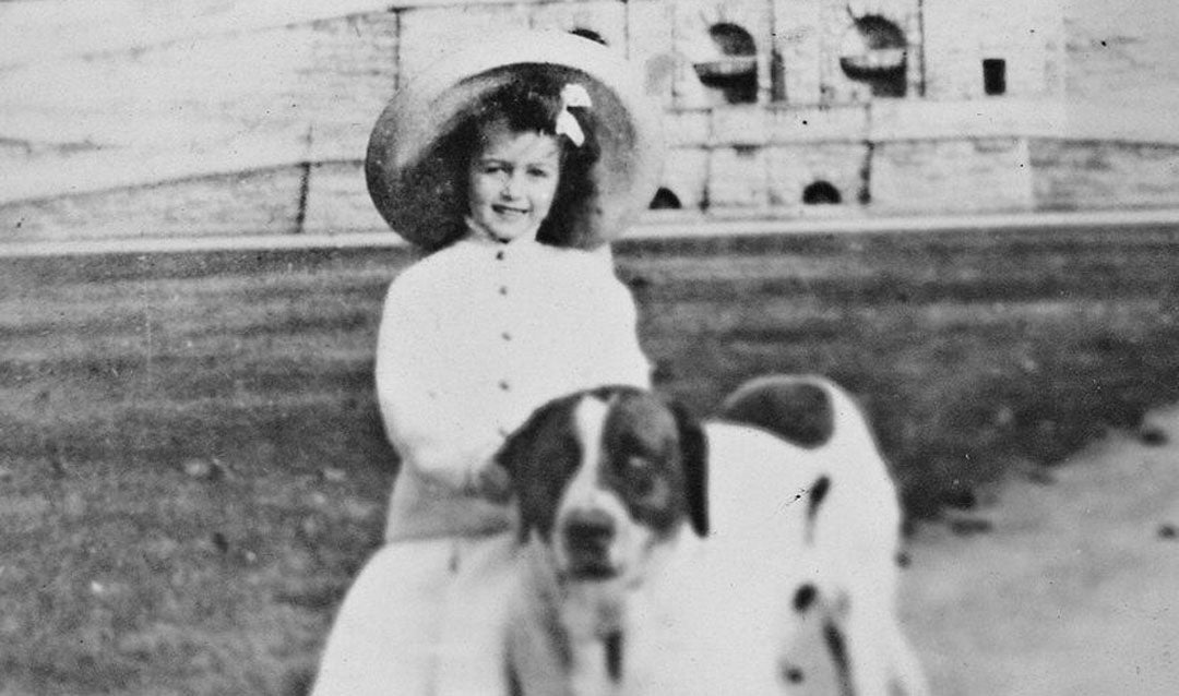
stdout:
<svg viewBox="0 0 1179 696">
<path fill-rule="evenodd" d="M 498 119 L 480 130 L 481 151 L 470 160 L 470 218 L 500 241 L 535 238 L 556 195 L 561 147 L 535 131 L 512 131 Z"/>
</svg>

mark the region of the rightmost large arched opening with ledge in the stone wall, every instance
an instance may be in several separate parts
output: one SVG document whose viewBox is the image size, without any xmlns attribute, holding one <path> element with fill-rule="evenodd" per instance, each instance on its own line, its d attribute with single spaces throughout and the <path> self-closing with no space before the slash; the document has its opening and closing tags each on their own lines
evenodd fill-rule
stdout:
<svg viewBox="0 0 1179 696">
<path fill-rule="evenodd" d="M 839 49 L 843 74 L 865 82 L 872 97 L 904 97 L 908 41 L 901 27 L 878 14 L 856 18 Z"/>
</svg>

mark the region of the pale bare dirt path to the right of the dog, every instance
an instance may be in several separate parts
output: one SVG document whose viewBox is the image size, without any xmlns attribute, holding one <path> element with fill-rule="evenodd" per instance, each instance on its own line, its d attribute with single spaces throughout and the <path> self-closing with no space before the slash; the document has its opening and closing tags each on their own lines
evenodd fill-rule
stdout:
<svg viewBox="0 0 1179 696">
<path fill-rule="evenodd" d="M 902 608 L 937 696 L 1179 694 L 1179 407 L 910 542 Z"/>
</svg>

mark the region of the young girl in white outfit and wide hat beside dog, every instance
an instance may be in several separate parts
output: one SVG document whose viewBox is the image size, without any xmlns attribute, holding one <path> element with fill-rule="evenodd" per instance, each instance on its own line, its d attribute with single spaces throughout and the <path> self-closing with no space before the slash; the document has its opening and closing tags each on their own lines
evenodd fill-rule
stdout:
<svg viewBox="0 0 1179 696">
<path fill-rule="evenodd" d="M 388 543 L 340 610 L 321 696 L 506 692 L 515 538 L 493 457 L 552 398 L 648 386 L 604 244 L 652 193 L 654 112 L 584 39 L 498 46 L 501 65 L 473 48 L 399 93 L 370 141 L 374 201 L 433 253 L 386 299 L 376 390 L 401 469 Z"/>
</svg>

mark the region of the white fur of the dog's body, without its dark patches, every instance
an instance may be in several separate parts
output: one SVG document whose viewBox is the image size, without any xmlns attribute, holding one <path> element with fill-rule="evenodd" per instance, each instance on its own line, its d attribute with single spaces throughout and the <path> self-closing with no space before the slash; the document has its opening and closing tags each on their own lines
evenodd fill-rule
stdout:
<svg viewBox="0 0 1179 696">
<path fill-rule="evenodd" d="M 601 675 L 574 680 L 551 647 L 535 649 L 552 643 L 554 625 L 569 630 L 553 617 L 577 611 L 565 603 L 584 597 L 538 586 L 551 571 L 534 539 L 512 625 L 525 696 L 790 694 L 796 687 L 783 680 L 783 667 L 797 664 L 798 654 L 822 652 L 815 642 L 829 619 L 843 632 L 850 664 L 843 677 L 828 675 L 831 692 L 928 692 L 894 606 L 901 523 L 895 488 L 858 407 L 839 387 L 819 382 L 832 399 L 836 426 L 818 449 L 753 427 L 706 426 L 711 533 L 702 539 L 684 525 L 645 563 L 641 578 L 607 589 L 625 634 L 620 683 Z M 809 533 L 808 492 L 821 476 L 831 486 Z M 799 615 L 793 596 L 804 584 L 816 588 L 818 599 Z M 587 655 L 601 659 L 600 652 Z M 809 682 L 818 676 L 806 669 Z"/>
</svg>

